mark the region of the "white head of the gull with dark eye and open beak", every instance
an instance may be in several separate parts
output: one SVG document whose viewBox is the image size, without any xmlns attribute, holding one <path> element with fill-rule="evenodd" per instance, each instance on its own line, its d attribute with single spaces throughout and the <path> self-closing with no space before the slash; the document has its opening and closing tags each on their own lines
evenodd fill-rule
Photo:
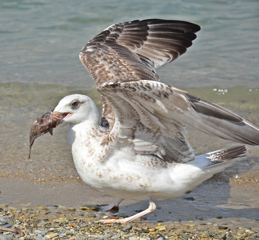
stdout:
<svg viewBox="0 0 259 240">
<path fill-rule="evenodd" d="M 62 114 L 61 122 L 82 123 L 88 119 L 99 118 L 99 113 L 93 100 L 85 95 L 73 94 L 60 100 L 53 112 Z"/>
</svg>

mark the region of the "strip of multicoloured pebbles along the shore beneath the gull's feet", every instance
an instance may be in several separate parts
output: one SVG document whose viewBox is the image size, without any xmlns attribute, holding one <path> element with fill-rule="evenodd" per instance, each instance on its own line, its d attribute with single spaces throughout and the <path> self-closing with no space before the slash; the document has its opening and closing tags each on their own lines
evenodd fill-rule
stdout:
<svg viewBox="0 0 259 240">
<path fill-rule="evenodd" d="M 25 234 L 21 237 L 16 233 L 0 231 L 0 240 L 250 240 L 258 239 L 259 236 L 257 222 L 254 223 L 256 227 L 246 224 L 240 226 L 238 221 L 233 220 L 237 223 L 233 225 L 233 221 L 223 222 L 219 218 L 203 216 L 193 221 L 156 224 L 147 215 L 147 221 L 101 224 L 100 219 L 104 215 L 121 218 L 121 213 L 114 215 L 92 209 L 80 209 L 80 212 L 69 210 L 73 207 L 45 206 L 28 207 L 28 210 L 21 212 L 19 209 L 10 210 L 7 206 L 0 209 L 1 227 L 9 224 L 13 228 L 19 227 Z M 49 209 L 47 215 L 43 214 L 46 209 Z"/>
</svg>

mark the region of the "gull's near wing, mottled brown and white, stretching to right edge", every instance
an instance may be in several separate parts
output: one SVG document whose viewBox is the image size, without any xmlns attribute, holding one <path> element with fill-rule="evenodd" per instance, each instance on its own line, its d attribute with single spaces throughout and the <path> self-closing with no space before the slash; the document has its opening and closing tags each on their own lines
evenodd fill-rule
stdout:
<svg viewBox="0 0 259 240">
<path fill-rule="evenodd" d="M 139 80 L 106 82 L 97 90 L 115 112 L 103 144 L 115 144 L 121 152 L 190 161 L 195 155 L 185 138 L 186 125 L 238 143 L 259 144 L 259 126 L 178 88 Z"/>
</svg>

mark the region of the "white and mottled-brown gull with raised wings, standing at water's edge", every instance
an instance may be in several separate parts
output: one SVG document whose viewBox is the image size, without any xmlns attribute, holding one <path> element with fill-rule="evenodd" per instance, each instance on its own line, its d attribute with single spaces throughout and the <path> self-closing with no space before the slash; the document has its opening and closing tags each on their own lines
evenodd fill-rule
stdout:
<svg viewBox="0 0 259 240">
<path fill-rule="evenodd" d="M 90 187 L 118 199 L 148 200 L 149 207 L 127 223 L 156 209 L 153 200 L 180 197 L 246 156 L 259 145 L 259 126 L 191 93 L 163 84 L 155 69 L 192 45 L 196 24 L 162 19 L 111 25 L 88 42 L 79 58 L 94 79 L 103 103 L 85 95 L 64 97 L 53 110 L 68 123 L 67 141 L 79 176 Z M 196 156 L 186 126 L 241 145 Z"/>
</svg>

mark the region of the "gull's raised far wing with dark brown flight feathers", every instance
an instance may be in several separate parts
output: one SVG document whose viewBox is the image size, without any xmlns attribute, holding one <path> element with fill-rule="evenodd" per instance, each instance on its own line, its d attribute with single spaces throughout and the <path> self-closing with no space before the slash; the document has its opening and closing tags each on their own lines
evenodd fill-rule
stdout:
<svg viewBox="0 0 259 240">
<path fill-rule="evenodd" d="M 79 58 L 97 86 L 115 80 L 159 81 L 155 68 L 186 52 L 199 30 L 196 24 L 175 20 L 118 23 L 90 40 L 82 48 Z M 111 127 L 114 113 L 103 96 L 102 102 L 102 125 Z"/>
</svg>

